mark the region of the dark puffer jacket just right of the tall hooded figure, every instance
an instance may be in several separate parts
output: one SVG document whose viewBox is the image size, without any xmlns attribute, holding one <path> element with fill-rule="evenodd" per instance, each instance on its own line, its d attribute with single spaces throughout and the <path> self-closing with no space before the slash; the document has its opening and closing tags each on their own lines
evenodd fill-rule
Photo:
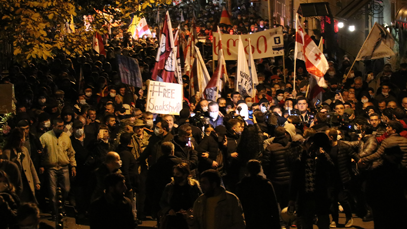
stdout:
<svg viewBox="0 0 407 229">
<path fill-rule="evenodd" d="M 338 141 L 337 167 L 339 169 L 340 179 L 343 184 L 351 181 L 352 160 L 359 161 L 360 156 L 352 148 L 342 141 Z"/>
</svg>

